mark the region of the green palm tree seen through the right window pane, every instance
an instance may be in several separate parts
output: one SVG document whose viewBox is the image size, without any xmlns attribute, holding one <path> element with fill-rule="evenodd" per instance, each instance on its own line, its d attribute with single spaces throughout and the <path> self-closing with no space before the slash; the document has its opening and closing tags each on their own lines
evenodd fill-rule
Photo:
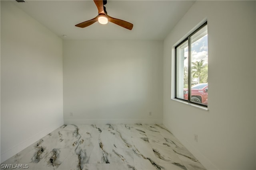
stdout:
<svg viewBox="0 0 256 170">
<path fill-rule="evenodd" d="M 204 60 L 201 59 L 200 61 L 192 62 L 192 77 L 197 78 L 198 83 L 201 82 L 201 78 L 205 76 L 205 68 L 207 64 L 204 64 Z M 207 78 L 208 79 L 208 78 Z"/>
</svg>

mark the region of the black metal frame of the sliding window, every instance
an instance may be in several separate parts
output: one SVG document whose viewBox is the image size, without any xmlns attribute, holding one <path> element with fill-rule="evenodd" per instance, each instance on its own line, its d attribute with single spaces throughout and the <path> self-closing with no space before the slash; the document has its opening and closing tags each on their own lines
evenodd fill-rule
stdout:
<svg viewBox="0 0 256 170">
<path fill-rule="evenodd" d="M 204 106 L 204 107 L 208 107 L 208 104 L 206 105 L 206 104 L 196 103 L 196 102 L 192 102 L 190 100 L 190 97 L 191 97 L 191 37 L 195 33 L 197 33 L 200 29 L 205 27 L 206 25 L 207 25 L 207 21 L 205 21 L 202 25 L 200 25 L 200 27 L 198 27 L 196 30 L 194 30 L 190 35 L 188 35 L 185 39 L 183 39 L 180 43 L 178 43 L 178 45 L 176 45 L 174 47 L 174 55 L 175 55 L 175 60 L 174 60 L 174 63 L 175 63 L 174 64 L 174 67 L 175 67 L 175 69 L 174 69 L 174 92 L 175 92 L 175 95 L 174 95 L 174 98 L 191 103 L 191 104 Z M 188 41 L 188 100 L 177 97 L 177 48 L 186 41 Z"/>
</svg>

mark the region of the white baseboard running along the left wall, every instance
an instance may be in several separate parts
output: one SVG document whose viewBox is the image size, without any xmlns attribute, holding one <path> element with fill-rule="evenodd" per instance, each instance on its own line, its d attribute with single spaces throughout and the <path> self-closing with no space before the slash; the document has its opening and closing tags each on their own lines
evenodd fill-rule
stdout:
<svg viewBox="0 0 256 170">
<path fill-rule="evenodd" d="M 48 135 L 49 133 L 51 133 L 52 131 L 54 131 L 55 129 L 57 129 L 58 127 L 60 127 L 62 125 L 63 125 L 63 121 L 60 121 L 59 123 L 56 123 L 55 125 L 52 125 L 51 127 L 48 127 L 46 129 L 44 129 L 43 131 L 37 133 L 33 137 L 30 137 L 26 141 L 23 141 L 22 143 L 20 143 L 16 147 L 13 147 L 12 149 L 7 150 L 6 152 L 2 153 L 1 157 L 0 157 L 1 158 L 1 163 L 6 161 L 7 159 L 11 158 L 12 156 L 17 154 L 18 152 L 22 151 L 26 147 L 32 145 L 33 143 L 35 143 L 36 141 L 38 141 L 42 137 L 45 137 L 46 135 Z"/>
</svg>

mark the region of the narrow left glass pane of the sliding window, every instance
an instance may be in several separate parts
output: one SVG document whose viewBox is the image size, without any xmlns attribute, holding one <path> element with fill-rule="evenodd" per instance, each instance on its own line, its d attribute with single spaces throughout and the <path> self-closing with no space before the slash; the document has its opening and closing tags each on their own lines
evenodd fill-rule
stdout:
<svg viewBox="0 0 256 170">
<path fill-rule="evenodd" d="M 188 100 L 188 41 L 176 48 L 176 98 Z"/>
</svg>

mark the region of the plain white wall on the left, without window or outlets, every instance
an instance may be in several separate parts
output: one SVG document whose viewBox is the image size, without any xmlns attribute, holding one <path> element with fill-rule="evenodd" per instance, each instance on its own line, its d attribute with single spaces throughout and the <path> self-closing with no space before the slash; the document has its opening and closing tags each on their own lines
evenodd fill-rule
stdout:
<svg viewBox="0 0 256 170">
<path fill-rule="evenodd" d="M 62 40 L 1 1 L 1 162 L 63 124 Z"/>
</svg>

